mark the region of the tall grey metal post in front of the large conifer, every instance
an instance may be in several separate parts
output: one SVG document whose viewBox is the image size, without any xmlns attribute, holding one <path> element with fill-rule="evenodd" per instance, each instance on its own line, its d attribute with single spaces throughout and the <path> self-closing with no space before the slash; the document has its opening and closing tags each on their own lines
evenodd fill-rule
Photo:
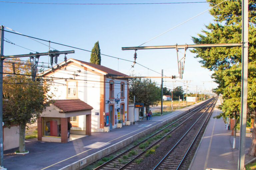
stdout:
<svg viewBox="0 0 256 170">
<path fill-rule="evenodd" d="M 248 0 L 242 0 L 242 84 L 238 170 L 244 168 L 248 79 Z"/>
</svg>

